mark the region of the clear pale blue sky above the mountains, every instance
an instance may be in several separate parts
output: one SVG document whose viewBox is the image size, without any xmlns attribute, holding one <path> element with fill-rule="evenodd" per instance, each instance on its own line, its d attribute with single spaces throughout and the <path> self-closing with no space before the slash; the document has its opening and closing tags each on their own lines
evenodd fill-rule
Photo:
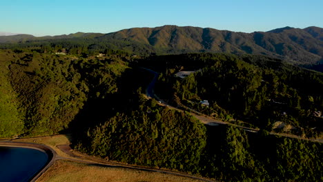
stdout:
<svg viewBox="0 0 323 182">
<path fill-rule="evenodd" d="M 323 28 L 322 0 L 1 0 L 0 32 L 36 36 L 198 26 L 235 32 Z"/>
</svg>

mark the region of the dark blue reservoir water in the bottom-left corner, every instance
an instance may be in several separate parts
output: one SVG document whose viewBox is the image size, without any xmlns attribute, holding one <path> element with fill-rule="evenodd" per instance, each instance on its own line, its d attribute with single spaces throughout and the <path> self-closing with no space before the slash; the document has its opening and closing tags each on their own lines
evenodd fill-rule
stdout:
<svg viewBox="0 0 323 182">
<path fill-rule="evenodd" d="M 47 161 L 41 150 L 0 146 L 0 181 L 29 181 Z"/>
</svg>

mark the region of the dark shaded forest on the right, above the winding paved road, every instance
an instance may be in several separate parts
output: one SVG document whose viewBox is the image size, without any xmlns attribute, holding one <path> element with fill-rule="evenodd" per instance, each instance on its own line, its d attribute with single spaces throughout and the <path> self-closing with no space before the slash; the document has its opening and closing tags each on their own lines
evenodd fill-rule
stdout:
<svg viewBox="0 0 323 182">
<path fill-rule="evenodd" d="M 271 130 L 277 121 L 295 134 L 322 134 L 323 74 L 280 59 L 231 54 L 182 54 L 142 62 L 159 72 L 155 92 L 224 120 Z M 177 77 L 180 71 L 193 71 Z M 200 102 L 208 100 L 210 105 Z"/>
</svg>

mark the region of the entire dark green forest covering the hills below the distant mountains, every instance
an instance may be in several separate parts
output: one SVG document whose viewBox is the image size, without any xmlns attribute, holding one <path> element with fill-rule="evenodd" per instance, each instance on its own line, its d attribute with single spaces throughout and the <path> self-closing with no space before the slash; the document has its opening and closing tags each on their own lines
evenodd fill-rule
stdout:
<svg viewBox="0 0 323 182">
<path fill-rule="evenodd" d="M 141 57 L 62 39 L 6 46 L 1 138 L 71 133 L 75 149 L 102 159 L 219 181 L 323 180 L 322 143 L 268 132 L 282 121 L 297 128 L 294 134 L 322 134 L 320 72 L 250 54 Z M 147 99 L 154 75 L 143 67 L 159 72 L 155 93 L 171 105 L 261 130 L 203 125 L 189 112 Z M 175 77 L 179 71 L 194 72 L 182 79 Z M 199 103 L 206 99 L 208 107 Z"/>
</svg>

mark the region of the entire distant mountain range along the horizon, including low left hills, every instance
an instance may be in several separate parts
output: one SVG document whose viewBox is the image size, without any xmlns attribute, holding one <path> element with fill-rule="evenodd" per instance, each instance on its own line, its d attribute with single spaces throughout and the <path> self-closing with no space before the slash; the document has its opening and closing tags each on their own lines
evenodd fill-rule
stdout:
<svg viewBox="0 0 323 182">
<path fill-rule="evenodd" d="M 91 45 L 112 43 L 114 48 L 137 54 L 228 52 L 264 54 L 302 65 L 323 63 L 323 28 L 314 26 L 304 29 L 285 27 L 252 33 L 191 26 L 161 26 L 130 28 L 108 34 L 77 32 L 54 37 L 34 37 L 28 34 L 0 36 L 0 43 L 52 39 L 86 39 Z"/>
</svg>

